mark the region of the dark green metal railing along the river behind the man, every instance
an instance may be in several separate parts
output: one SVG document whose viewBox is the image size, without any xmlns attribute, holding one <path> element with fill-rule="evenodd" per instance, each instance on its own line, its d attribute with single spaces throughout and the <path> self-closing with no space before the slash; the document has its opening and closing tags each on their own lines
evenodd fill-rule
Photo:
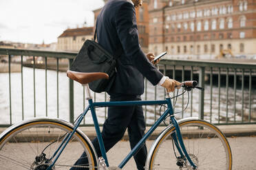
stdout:
<svg viewBox="0 0 256 170">
<path fill-rule="evenodd" d="M 21 120 L 28 118 L 25 116 L 28 111 L 26 111 L 24 107 L 25 103 L 28 102 L 28 99 L 25 99 L 24 101 L 24 76 L 27 73 L 31 73 L 31 76 L 25 81 L 30 81 L 30 79 L 33 80 L 32 84 L 29 86 L 29 88 L 32 88 L 30 90 L 32 90 L 33 93 L 32 97 L 29 98 L 33 103 L 33 106 L 29 106 L 30 108 L 33 107 L 33 109 L 30 110 L 30 112 L 33 112 L 33 114 L 30 114 L 29 117 L 38 117 L 38 110 L 42 110 L 41 108 L 36 108 L 36 101 L 38 101 L 38 98 L 44 100 L 45 102 L 45 106 L 43 106 L 43 109 L 45 109 L 45 114 L 43 116 L 46 117 L 50 115 L 50 110 L 50 112 L 56 112 L 54 117 L 63 118 L 64 116 L 62 114 L 65 111 L 60 111 L 61 107 L 68 106 L 65 107 L 65 110 L 69 110 L 67 112 L 68 116 L 66 115 L 65 119 L 69 119 L 70 122 L 74 122 L 74 118 L 78 115 L 77 113 L 82 112 L 85 108 L 86 102 L 84 100 L 84 88 L 79 87 L 80 90 L 76 93 L 74 90 L 76 90 L 78 87 L 77 84 L 72 80 L 65 78 L 65 81 L 68 81 L 68 88 L 67 90 L 64 90 L 64 93 L 68 93 L 69 99 L 67 99 L 67 101 L 62 101 L 63 97 L 60 94 L 60 90 L 63 89 L 65 83 L 63 83 L 63 80 L 61 80 L 60 84 L 59 76 L 60 74 L 61 76 L 65 75 L 65 73 L 61 71 L 65 71 L 68 68 L 68 66 L 74 60 L 76 53 L 0 48 L 0 55 L 2 55 L 3 58 L 8 58 L 8 62 L 6 63 L 8 72 L 2 73 L 2 77 L 6 76 L 6 79 L 2 78 L 1 80 L 0 76 L 0 82 L 4 82 L 4 80 L 8 79 L 8 85 L 5 87 L 1 87 L 0 85 L 0 92 L 1 90 L 6 90 L 9 92 L 8 97 L 4 96 L 9 100 L 8 106 L 2 106 L 1 108 L 0 102 L 1 115 L 4 114 L 5 117 L 7 117 L 6 114 L 9 114 L 8 121 L 1 121 L 0 119 L 0 126 L 7 127 L 12 125 L 12 123 L 15 123 L 15 121 L 13 121 L 14 117 L 20 117 L 19 119 Z M 12 61 L 12 58 L 14 58 L 13 56 L 15 56 L 16 59 L 20 58 L 20 60 L 16 62 Z M 43 62 L 41 62 L 41 64 L 36 64 L 39 57 L 41 60 L 43 60 Z M 18 63 L 20 73 L 12 73 L 12 65 L 15 63 L 16 65 Z M 63 66 L 63 63 L 64 65 L 66 64 L 65 68 L 61 67 Z M 26 73 L 23 73 L 25 66 L 30 66 L 30 69 L 28 72 L 26 70 Z M 44 73 L 43 75 L 39 75 L 40 77 L 36 77 L 36 71 L 39 70 L 38 68 L 44 69 Z M 50 70 L 53 71 L 49 73 Z M 184 93 L 184 95 L 179 97 L 178 100 L 175 98 L 173 99 L 173 105 L 175 105 L 175 111 L 178 112 L 178 118 L 199 117 L 200 119 L 206 119 L 207 121 L 211 121 L 212 123 L 219 125 L 256 123 L 256 89 L 253 88 L 253 83 L 256 82 L 255 63 L 161 60 L 160 71 L 178 81 L 198 80 L 199 86 L 205 88 L 204 91 L 195 92 L 195 90 L 192 90 L 189 97 L 186 95 L 186 93 Z M 19 83 L 12 84 L 12 74 L 15 76 L 20 75 L 20 82 L 18 81 Z M 56 83 L 54 83 L 54 86 L 52 86 L 53 81 L 49 80 L 52 75 L 56 76 Z M 42 95 L 37 96 L 36 93 L 38 90 L 42 91 L 42 89 L 36 88 L 36 83 L 39 82 L 39 84 L 42 84 L 41 81 L 43 80 L 45 82 L 45 97 Z M 17 82 L 17 80 L 14 82 Z M 15 87 L 13 88 L 13 86 Z M 20 88 L 18 92 L 20 94 L 12 94 L 12 91 L 15 91 L 13 90 L 15 88 Z M 54 90 L 52 90 L 52 88 L 54 88 Z M 52 95 L 51 93 L 53 91 L 54 93 L 56 92 L 56 99 L 54 102 L 50 100 L 53 97 L 49 97 Z M 182 92 L 184 91 L 182 90 Z M 15 115 L 13 113 L 13 110 L 15 109 L 14 105 L 12 104 L 12 98 L 17 98 L 16 96 L 13 97 L 13 95 L 21 95 L 20 99 L 18 99 L 19 102 L 21 101 L 21 106 L 19 106 L 19 112 L 21 112 L 21 115 Z M 74 97 L 74 95 L 79 96 L 80 98 Z M 173 96 L 175 95 L 176 92 L 173 93 Z M 106 93 L 94 93 L 94 100 L 99 99 L 99 101 L 107 101 L 107 98 Z M 164 98 L 164 89 L 158 86 L 153 87 L 147 80 L 145 80 L 145 94 L 142 95 L 142 99 L 153 100 L 162 98 Z M 83 103 L 81 103 L 81 101 Z M 186 107 L 186 101 L 189 101 L 188 107 Z M 75 109 L 76 103 L 81 103 L 79 109 Z M 62 106 L 60 106 L 60 104 L 62 104 Z M 49 105 L 51 108 L 48 107 Z M 52 109 L 53 105 L 54 109 Z M 184 108 L 186 108 L 186 110 L 184 110 Z M 147 125 L 151 125 L 159 117 L 158 112 L 162 112 L 164 107 L 144 106 L 144 109 Z M 107 117 L 107 108 L 99 108 L 97 112 L 98 111 L 100 112 L 100 114 L 98 114 L 100 117 L 100 124 L 102 124 Z M 76 112 L 77 115 L 74 114 L 74 112 Z M 52 116 L 52 114 L 50 116 Z M 90 121 L 90 118 L 86 116 L 83 125 L 93 125 L 93 123 Z"/>
</svg>

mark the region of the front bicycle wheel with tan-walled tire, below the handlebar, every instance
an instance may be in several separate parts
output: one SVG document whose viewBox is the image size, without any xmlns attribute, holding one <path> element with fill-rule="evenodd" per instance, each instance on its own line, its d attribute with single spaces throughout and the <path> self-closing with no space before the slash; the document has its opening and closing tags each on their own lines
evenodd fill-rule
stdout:
<svg viewBox="0 0 256 170">
<path fill-rule="evenodd" d="M 186 151 L 198 169 L 232 169 L 231 147 L 215 125 L 191 118 L 182 119 L 178 123 Z M 178 161 L 180 154 L 171 137 L 173 133 L 175 127 L 170 125 L 156 139 L 149 151 L 146 169 L 192 169 L 187 160 Z M 177 165 L 180 162 L 182 166 Z"/>
</svg>

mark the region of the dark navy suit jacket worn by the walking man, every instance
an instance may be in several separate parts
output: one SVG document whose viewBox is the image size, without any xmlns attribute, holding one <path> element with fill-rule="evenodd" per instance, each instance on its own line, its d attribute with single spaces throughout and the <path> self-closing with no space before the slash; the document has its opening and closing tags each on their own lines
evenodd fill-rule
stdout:
<svg viewBox="0 0 256 170">
<path fill-rule="evenodd" d="M 134 5 L 126 0 L 108 1 L 98 15 L 96 26 L 98 43 L 103 48 L 112 54 L 120 47 L 123 49 L 109 95 L 142 95 L 144 77 L 153 85 L 160 82 L 162 73 L 140 49 Z"/>
</svg>

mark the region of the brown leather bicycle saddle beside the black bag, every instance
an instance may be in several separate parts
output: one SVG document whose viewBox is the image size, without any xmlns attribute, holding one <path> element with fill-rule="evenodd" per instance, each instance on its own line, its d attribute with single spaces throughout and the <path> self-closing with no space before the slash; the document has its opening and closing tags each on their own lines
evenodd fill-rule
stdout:
<svg viewBox="0 0 256 170">
<path fill-rule="evenodd" d="M 99 79 L 108 79 L 109 75 L 107 73 L 96 72 L 96 73 L 81 73 L 76 71 L 67 71 L 67 77 L 75 80 L 81 84 L 88 84 L 89 82 L 93 82 Z"/>
</svg>

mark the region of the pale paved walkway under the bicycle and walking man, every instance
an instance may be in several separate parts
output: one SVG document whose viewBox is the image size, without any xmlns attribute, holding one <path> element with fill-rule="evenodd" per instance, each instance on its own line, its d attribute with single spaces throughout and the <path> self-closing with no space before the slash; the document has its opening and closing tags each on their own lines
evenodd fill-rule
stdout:
<svg viewBox="0 0 256 170">
<path fill-rule="evenodd" d="M 256 170 L 256 125 L 226 125 L 219 126 L 222 132 L 228 137 L 228 141 L 231 145 L 231 150 L 233 153 L 233 169 L 243 170 L 243 169 L 255 169 Z M 90 138 L 95 135 L 95 130 L 93 127 L 81 127 L 81 129 Z M 0 128 L 4 130 L 4 128 Z M 156 131 L 162 131 L 162 128 Z M 154 136 L 154 134 L 153 134 Z M 154 138 L 152 136 L 152 138 Z M 125 136 L 127 138 L 127 136 Z M 151 147 L 153 140 L 147 141 L 148 150 Z M 206 145 L 209 143 L 206 143 Z M 74 146 L 76 148 L 76 146 Z M 28 149 L 29 150 L 29 149 Z M 74 149 L 74 154 L 76 154 Z M 129 142 L 126 140 L 117 143 L 108 153 L 109 165 L 117 166 L 120 162 L 127 156 L 130 151 Z M 217 154 L 218 151 L 216 150 Z M 80 154 L 79 154 L 80 155 Z M 216 163 L 217 164 L 217 163 Z M 1 167 L 1 166 L 0 166 Z M 1 168 L 0 168 L 1 169 Z M 131 158 L 127 165 L 123 168 L 124 170 L 134 170 L 136 165 L 134 159 Z M 210 168 L 209 168 L 210 169 Z"/>
</svg>

